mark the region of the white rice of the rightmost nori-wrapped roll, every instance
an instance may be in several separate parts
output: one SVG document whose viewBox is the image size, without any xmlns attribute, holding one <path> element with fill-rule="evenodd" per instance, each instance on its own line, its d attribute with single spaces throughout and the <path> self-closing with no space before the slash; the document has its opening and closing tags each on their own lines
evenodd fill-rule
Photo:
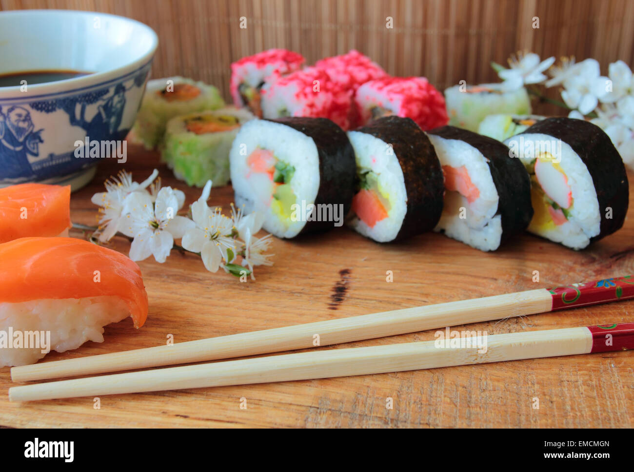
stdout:
<svg viewBox="0 0 634 472">
<path fill-rule="evenodd" d="M 598 206 L 597 190 L 581 157 L 574 152 L 564 141 L 557 140 L 548 134 L 523 133 L 517 134 L 504 141 L 512 150 L 517 151 L 517 157 L 522 164 L 530 170 L 531 161 L 536 159 L 545 145 L 557 143 L 555 159 L 560 159 L 559 166 L 566 174 L 568 185 L 573 194 L 573 205 L 567 209 L 569 218 L 563 225 L 555 225 L 538 228 L 531 224 L 528 230 L 531 233 L 545 237 L 564 246 L 573 249 L 583 249 L 590 244 L 590 238 L 597 236 L 601 231 L 601 214 Z"/>
</svg>

